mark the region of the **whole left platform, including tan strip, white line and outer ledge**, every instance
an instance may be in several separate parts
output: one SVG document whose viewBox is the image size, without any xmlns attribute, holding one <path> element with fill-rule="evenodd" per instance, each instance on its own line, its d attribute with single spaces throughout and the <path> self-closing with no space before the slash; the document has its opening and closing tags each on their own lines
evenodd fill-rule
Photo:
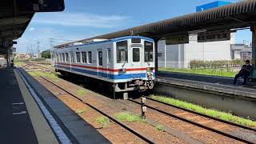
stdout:
<svg viewBox="0 0 256 144">
<path fill-rule="evenodd" d="M 110 143 L 25 70 L 0 78 L 0 143 Z"/>
</svg>

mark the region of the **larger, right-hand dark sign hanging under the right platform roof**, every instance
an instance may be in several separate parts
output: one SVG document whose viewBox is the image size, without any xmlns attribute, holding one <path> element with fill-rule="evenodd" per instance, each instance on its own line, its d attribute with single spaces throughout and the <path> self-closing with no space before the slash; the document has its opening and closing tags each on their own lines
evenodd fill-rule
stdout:
<svg viewBox="0 0 256 144">
<path fill-rule="evenodd" d="M 230 30 L 217 30 L 198 33 L 198 42 L 217 42 L 230 40 Z"/>
</svg>

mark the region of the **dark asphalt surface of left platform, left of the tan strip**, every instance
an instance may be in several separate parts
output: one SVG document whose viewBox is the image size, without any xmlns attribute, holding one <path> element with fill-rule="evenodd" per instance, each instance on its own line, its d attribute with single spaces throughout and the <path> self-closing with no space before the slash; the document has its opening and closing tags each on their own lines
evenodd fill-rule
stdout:
<svg viewBox="0 0 256 144">
<path fill-rule="evenodd" d="M 0 69 L 0 143 L 38 143 L 13 69 Z"/>
</svg>

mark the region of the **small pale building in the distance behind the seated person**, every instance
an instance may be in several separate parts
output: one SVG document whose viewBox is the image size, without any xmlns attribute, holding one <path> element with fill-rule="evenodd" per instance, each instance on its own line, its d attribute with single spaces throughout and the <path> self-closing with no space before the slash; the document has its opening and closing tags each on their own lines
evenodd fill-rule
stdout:
<svg viewBox="0 0 256 144">
<path fill-rule="evenodd" d="M 233 44 L 231 45 L 231 58 L 251 60 L 252 58 L 252 47 L 245 44 Z"/>
</svg>

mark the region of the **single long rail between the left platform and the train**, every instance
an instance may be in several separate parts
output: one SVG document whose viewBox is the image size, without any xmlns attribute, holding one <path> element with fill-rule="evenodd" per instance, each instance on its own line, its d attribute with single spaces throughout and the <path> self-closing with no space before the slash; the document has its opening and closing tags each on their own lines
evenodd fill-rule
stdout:
<svg viewBox="0 0 256 144">
<path fill-rule="evenodd" d="M 147 142 L 147 143 L 154 143 L 150 138 L 146 138 L 146 136 L 144 136 L 143 134 L 140 134 L 138 131 L 134 130 L 133 128 L 131 128 L 130 126 L 127 126 L 125 123 L 123 122 L 119 122 L 116 118 L 114 118 L 113 116 L 111 116 L 110 114 L 106 114 L 104 111 L 98 109 L 95 106 L 92 106 L 90 103 L 88 102 L 84 102 L 81 98 L 78 98 L 75 94 L 72 94 L 70 91 L 68 90 L 64 90 L 61 86 L 58 86 L 57 84 L 55 84 L 54 82 L 51 82 L 49 79 L 44 78 L 41 76 L 42 79 L 44 79 L 46 82 L 49 82 L 51 85 L 57 87 L 59 90 L 62 90 L 63 92 L 65 92 L 66 94 L 69 94 L 71 97 L 78 99 L 78 101 L 82 102 L 83 104 L 85 104 L 86 106 L 89 106 L 90 108 L 98 111 L 100 114 L 106 116 L 107 118 L 109 118 L 112 122 L 115 122 L 116 124 L 118 124 L 119 126 L 122 126 L 124 129 L 130 131 L 130 133 L 134 134 L 135 136 L 137 136 L 138 138 L 141 138 L 143 141 Z"/>
</svg>

